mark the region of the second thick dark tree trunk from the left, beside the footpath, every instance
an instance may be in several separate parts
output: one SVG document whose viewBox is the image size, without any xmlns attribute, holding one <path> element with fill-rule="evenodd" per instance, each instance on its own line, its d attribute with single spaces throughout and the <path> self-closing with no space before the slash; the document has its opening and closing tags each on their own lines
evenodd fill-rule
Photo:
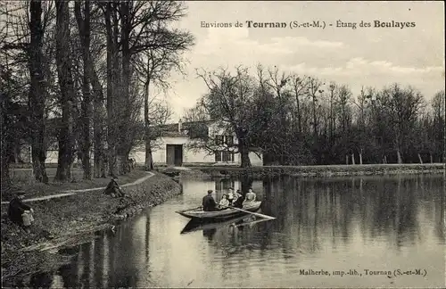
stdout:
<svg viewBox="0 0 446 289">
<path fill-rule="evenodd" d="M 54 179 L 67 181 L 71 178 L 73 153 L 74 83 L 70 59 L 70 11 L 69 3 L 57 0 L 56 5 L 56 64 L 61 87 L 62 123 L 59 131 L 59 156 Z"/>
</svg>

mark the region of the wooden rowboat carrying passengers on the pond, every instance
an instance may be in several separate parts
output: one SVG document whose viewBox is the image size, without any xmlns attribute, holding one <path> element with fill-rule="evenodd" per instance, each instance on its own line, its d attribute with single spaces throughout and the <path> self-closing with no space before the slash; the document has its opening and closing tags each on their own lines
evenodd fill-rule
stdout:
<svg viewBox="0 0 446 289">
<path fill-rule="evenodd" d="M 183 211 L 176 211 L 181 216 L 189 219 L 197 220 L 217 220 L 217 219 L 230 219 L 235 216 L 247 214 L 249 212 L 259 211 L 261 202 L 247 202 L 244 203 L 243 211 L 228 208 L 222 211 L 202 211 L 202 207 L 187 209 Z M 244 212 L 247 211 L 247 212 Z"/>
</svg>

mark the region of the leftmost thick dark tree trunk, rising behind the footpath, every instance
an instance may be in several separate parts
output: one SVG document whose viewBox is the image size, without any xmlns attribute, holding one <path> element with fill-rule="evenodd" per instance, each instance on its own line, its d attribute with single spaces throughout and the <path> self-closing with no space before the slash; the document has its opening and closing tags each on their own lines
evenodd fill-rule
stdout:
<svg viewBox="0 0 446 289">
<path fill-rule="evenodd" d="M 42 73 L 43 55 L 42 40 L 44 30 L 42 27 L 42 2 L 33 0 L 29 4 L 30 11 L 30 43 L 29 43 L 29 127 L 31 130 L 31 160 L 34 178 L 38 182 L 47 184 L 48 177 L 45 170 L 45 88 Z"/>
</svg>

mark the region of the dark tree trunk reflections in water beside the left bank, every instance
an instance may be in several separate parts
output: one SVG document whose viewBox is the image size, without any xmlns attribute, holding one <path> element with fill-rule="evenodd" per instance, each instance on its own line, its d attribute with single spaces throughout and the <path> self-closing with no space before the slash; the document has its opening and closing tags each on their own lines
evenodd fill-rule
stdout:
<svg viewBox="0 0 446 289">
<path fill-rule="evenodd" d="M 82 244 L 77 258 L 62 266 L 55 277 L 62 279 L 65 287 L 150 284 L 146 274 L 149 269 L 148 220 L 148 216 L 143 215 L 133 223 L 122 224 L 116 234 L 103 232 L 92 242 Z M 60 286 L 53 284 L 53 287 Z"/>
</svg>

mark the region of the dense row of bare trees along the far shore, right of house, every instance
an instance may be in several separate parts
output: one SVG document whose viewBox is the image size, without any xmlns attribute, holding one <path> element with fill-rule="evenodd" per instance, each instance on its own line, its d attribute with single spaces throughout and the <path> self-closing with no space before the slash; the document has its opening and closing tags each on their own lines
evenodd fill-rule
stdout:
<svg viewBox="0 0 446 289">
<path fill-rule="evenodd" d="M 445 95 L 415 87 L 363 87 L 258 66 L 204 71 L 209 87 L 186 120 L 216 120 L 235 132 L 229 150 L 263 153 L 265 165 L 441 162 Z M 214 141 L 205 136 L 207 147 Z M 201 144 L 197 142 L 197 145 Z"/>
</svg>

